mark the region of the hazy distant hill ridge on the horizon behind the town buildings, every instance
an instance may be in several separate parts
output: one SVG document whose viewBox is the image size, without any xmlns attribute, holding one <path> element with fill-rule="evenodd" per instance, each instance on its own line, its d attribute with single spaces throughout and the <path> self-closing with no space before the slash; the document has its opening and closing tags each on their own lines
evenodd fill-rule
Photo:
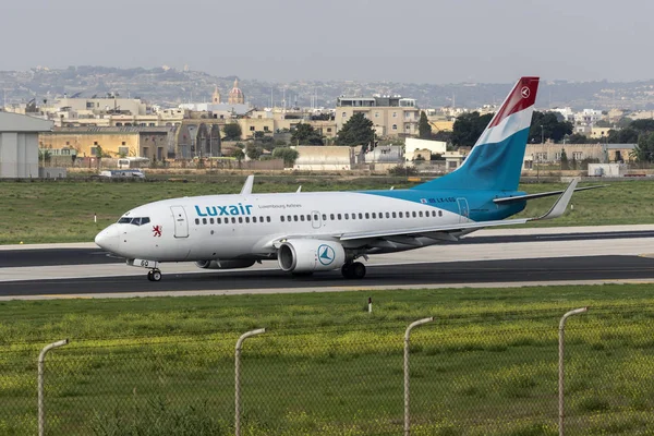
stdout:
<svg viewBox="0 0 654 436">
<path fill-rule="evenodd" d="M 177 106 L 187 101 L 208 101 L 214 86 L 218 85 L 223 98 L 232 87 L 234 76 L 217 77 L 198 71 L 175 69 L 118 69 L 107 66 L 69 66 L 63 70 L 44 68 L 29 71 L 0 72 L 0 84 L 8 102 L 28 101 L 36 98 L 72 96 L 102 96 L 118 93 L 121 97 L 141 97 L 152 104 Z M 513 77 L 507 77 L 513 78 Z M 518 77 L 514 77 L 516 80 Z M 487 104 L 500 104 L 511 83 L 506 84 L 412 84 L 391 82 L 318 82 L 299 81 L 272 83 L 258 80 L 240 81 L 246 99 L 257 107 L 270 106 L 272 99 L 287 107 L 310 106 L 317 96 L 317 106 L 334 107 L 340 95 L 402 95 L 415 98 L 421 108 L 451 106 L 476 108 Z M 573 109 L 626 108 L 654 109 L 654 81 L 613 82 L 544 82 L 536 105 L 541 108 L 570 106 Z"/>
</svg>

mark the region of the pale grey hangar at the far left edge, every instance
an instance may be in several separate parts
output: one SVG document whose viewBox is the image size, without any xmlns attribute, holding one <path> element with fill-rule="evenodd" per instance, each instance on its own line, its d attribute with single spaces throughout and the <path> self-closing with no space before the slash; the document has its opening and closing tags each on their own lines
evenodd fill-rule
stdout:
<svg viewBox="0 0 654 436">
<path fill-rule="evenodd" d="M 52 121 L 0 112 L 0 178 L 38 178 L 38 133 Z"/>
</svg>

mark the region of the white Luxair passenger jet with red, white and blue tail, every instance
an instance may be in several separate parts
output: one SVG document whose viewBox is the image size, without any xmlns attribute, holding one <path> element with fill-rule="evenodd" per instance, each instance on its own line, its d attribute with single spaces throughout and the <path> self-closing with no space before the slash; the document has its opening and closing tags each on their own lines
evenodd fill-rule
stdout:
<svg viewBox="0 0 654 436">
<path fill-rule="evenodd" d="M 238 195 L 164 199 L 125 213 L 95 242 L 148 269 L 195 262 L 205 269 L 247 268 L 277 259 L 293 275 L 341 270 L 362 279 L 370 255 L 457 241 L 475 230 L 561 216 L 577 187 L 518 191 L 538 77 L 521 77 L 455 171 L 407 190 L 255 194 L 250 175 Z M 541 217 L 506 219 L 526 202 L 559 195 Z"/>
</svg>

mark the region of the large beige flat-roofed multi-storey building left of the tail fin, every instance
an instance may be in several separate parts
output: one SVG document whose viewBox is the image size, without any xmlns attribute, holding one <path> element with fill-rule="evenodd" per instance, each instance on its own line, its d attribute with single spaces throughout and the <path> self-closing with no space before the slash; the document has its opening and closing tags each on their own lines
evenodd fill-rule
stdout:
<svg viewBox="0 0 654 436">
<path fill-rule="evenodd" d="M 336 101 L 336 125 L 341 130 L 354 113 L 363 113 L 373 122 L 378 136 L 417 134 L 420 109 L 413 98 L 401 96 L 339 97 Z"/>
</svg>

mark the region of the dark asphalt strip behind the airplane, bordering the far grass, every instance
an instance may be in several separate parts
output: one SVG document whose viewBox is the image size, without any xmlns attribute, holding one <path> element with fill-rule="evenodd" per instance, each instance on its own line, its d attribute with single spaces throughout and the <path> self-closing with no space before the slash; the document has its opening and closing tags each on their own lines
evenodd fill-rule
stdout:
<svg viewBox="0 0 654 436">
<path fill-rule="evenodd" d="M 524 234 L 514 237 L 469 237 L 447 244 L 488 244 L 509 242 L 552 242 L 654 238 L 654 231 L 621 231 L 596 233 Z M 124 263 L 124 259 L 100 249 L 46 249 L 0 251 L 0 268 L 55 265 L 93 265 Z"/>
</svg>

